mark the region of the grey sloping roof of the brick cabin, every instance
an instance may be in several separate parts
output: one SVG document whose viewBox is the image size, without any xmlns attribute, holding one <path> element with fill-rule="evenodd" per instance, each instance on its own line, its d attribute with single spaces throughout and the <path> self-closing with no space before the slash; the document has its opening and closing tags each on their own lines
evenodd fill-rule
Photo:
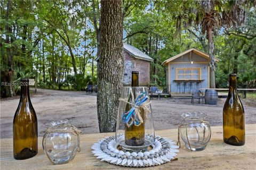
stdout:
<svg viewBox="0 0 256 170">
<path fill-rule="evenodd" d="M 153 58 L 149 57 L 147 54 L 141 52 L 138 48 L 131 46 L 129 44 L 124 44 L 124 50 L 130 53 L 134 58 L 138 58 L 140 60 L 146 60 L 149 62 L 154 61 Z"/>
</svg>

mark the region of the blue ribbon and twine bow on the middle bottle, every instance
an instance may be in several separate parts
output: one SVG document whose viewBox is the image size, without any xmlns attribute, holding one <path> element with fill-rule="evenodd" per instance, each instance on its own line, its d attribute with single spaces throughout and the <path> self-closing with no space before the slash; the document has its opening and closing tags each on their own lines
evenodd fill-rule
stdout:
<svg viewBox="0 0 256 170">
<path fill-rule="evenodd" d="M 150 101 L 145 92 L 142 92 L 136 98 L 134 98 L 132 89 L 130 89 L 130 94 L 132 97 L 131 103 L 128 101 L 128 99 L 119 99 L 119 101 L 124 101 L 126 104 L 132 105 L 130 111 L 124 112 L 122 116 L 122 122 L 126 123 L 128 128 L 132 125 L 139 126 L 141 123 L 146 121 L 147 115 L 141 115 L 141 109 L 139 109 L 140 107 L 146 112 L 150 112 Z M 145 120 L 143 120 L 142 116 L 145 117 Z"/>
</svg>

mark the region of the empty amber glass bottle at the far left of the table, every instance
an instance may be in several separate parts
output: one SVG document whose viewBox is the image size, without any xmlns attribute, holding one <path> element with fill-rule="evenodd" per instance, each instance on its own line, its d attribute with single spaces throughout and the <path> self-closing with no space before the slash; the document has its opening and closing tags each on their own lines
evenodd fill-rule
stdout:
<svg viewBox="0 0 256 170">
<path fill-rule="evenodd" d="M 38 151 L 37 117 L 29 97 L 29 81 L 21 79 L 20 83 L 20 103 L 13 118 L 13 157 L 27 159 Z"/>
</svg>

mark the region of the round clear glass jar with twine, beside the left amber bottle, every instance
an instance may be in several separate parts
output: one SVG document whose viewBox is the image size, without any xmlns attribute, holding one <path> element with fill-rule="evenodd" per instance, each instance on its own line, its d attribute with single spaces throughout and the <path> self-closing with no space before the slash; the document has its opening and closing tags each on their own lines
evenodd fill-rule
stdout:
<svg viewBox="0 0 256 170">
<path fill-rule="evenodd" d="M 43 149 L 53 164 L 63 164 L 72 160 L 80 151 L 79 133 L 68 120 L 46 124 Z"/>
</svg>

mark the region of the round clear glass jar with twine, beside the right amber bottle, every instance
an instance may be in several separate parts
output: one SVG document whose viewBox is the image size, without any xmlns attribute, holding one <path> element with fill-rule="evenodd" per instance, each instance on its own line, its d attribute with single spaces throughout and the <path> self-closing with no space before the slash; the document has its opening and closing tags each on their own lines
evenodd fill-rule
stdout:
<svg viewBox="0 0 256 170">
<path fill-rule="evenodd" d="M 191 151 L 204 150 L 211 139 L 209 122 L 205 121 L 206 114 L 187 112 L 182 114 L 183 120 L 179 125 L 178 143 L 180 137 L 185 146 Z"/>
</svg>

